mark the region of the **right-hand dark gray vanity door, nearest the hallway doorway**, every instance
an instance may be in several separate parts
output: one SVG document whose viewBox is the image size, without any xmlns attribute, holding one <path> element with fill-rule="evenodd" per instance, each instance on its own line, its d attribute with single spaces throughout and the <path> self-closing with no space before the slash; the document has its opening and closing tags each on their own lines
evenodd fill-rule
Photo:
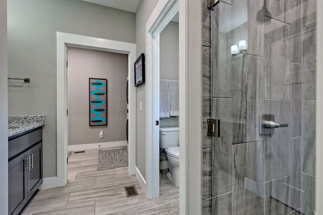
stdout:
<svg viewBox="0 0 323 215">
<path fill-rule="evenodd" d="M 28 199 L 30 199 L 42 183 L 42 143 L 33 146 L 27 154 L 31 159 L 31 169 L 28 171 Z"/>
</svg>

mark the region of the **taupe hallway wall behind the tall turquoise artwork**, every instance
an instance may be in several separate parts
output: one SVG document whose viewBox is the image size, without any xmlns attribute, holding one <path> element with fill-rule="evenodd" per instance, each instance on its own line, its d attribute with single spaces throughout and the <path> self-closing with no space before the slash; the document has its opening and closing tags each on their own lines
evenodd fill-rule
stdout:
<svg viewBox="0 0 323 215">
<path fill-rule="evenodd" d="M 69 47 L 68 63 L 69 145 L 127 140 L 128 55 Z M 107 79 L 107 126 L 89 126 L 89 78 Z"/>
</svg>

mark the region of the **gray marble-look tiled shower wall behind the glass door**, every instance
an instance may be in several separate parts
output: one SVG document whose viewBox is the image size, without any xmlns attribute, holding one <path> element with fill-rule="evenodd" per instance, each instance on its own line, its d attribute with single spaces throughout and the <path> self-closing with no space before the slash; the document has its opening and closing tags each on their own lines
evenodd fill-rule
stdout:
<svg viewBox="0 0 323 215">
<path fill-rule="evenodd" d="M 316 1 L 202 4 L 203 214 L 312 214 Z M 242 39 L 247 51 L 231 56 Z M 265 113 L 289 126 L 259 135 Z"/>
</svg>

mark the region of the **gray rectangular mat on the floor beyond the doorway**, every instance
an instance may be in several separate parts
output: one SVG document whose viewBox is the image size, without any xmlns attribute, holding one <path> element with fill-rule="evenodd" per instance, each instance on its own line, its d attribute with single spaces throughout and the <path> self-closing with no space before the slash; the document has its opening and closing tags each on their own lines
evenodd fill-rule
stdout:
<svg viewBox="0 0 323 215">
<path fill-rule="evenodd" d="M 99 150 L 97 170 L 128 166 L 128 149 Z"/>
</svg>

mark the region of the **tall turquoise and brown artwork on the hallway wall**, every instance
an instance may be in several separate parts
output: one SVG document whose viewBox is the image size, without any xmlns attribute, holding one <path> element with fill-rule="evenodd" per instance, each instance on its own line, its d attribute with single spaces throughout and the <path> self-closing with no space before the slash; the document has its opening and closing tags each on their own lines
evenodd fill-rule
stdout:
<svg viewBox="0 0 323 215">
<path fill-rule="evenodd" d="M 107 125 L 107 79 L 89 78 L 89 126 Z"/>
</svg>

